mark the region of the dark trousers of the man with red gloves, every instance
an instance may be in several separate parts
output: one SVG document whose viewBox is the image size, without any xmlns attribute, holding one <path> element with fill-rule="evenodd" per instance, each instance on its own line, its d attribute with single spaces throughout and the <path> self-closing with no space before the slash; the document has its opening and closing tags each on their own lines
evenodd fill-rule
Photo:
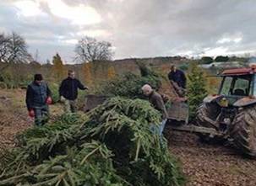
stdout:
<svg viewBox="0 0 256 186">
<path fill-rule="evenodd" d="M 35 125 L 42 126 L 49 120 L 49 108 L 48 105 L 41 107 L 35 107 Z"/>
</svg>

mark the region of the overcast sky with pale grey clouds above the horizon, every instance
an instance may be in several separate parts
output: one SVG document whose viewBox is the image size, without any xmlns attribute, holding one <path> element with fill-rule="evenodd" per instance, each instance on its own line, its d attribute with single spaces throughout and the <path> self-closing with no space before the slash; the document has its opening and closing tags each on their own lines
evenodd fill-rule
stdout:
<svg viewBox="0 0 256 186">
<path fill-rule="evenodd" d="M 66 62 L 84 35 L 115 59 L 256 53 L 255 0 L 0 0 L 0 33 L 22 35 L 34 56 Z"/>
</svg>

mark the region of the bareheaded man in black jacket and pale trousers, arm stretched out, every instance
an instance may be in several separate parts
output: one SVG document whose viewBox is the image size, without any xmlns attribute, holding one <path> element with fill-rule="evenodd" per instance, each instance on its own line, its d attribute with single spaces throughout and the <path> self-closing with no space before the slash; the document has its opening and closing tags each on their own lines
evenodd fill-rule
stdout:
<svg viewBox="0 0 256 186">
<path fill-rule="evenodd" d="M 59 96 L 65 104 L 65 112 L 76 111 L 76 99 L 78 98 L 78 88 L 88 89 L 78 79 L 74 77 L 74 71 L 68 70 L 68 78 L 64 79 L 59 88 Z"/>
</svg>

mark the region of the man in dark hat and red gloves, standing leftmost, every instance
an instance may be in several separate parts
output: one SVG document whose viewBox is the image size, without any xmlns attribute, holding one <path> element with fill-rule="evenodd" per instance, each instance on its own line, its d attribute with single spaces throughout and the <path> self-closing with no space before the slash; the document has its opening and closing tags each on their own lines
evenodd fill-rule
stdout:
<svg viewBox="0 0 256 186">
<path fill-rule="evenodd" d="M 35 74 L 34 82 L 27 88 L 26 105 L 30 117 L 35 117 L 35 125 L 45 125 L 49 118 L 48 104 L 52 104 L 51 90 L 41 74 Z"/>
</svg>

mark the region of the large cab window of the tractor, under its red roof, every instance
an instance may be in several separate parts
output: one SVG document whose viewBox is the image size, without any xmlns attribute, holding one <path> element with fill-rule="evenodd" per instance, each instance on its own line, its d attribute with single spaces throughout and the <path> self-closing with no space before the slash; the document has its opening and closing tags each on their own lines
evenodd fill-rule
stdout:
<svg viewBox="0 0 256 186">
<path fill-rule="evenodd" d="M 250 76 L 224 77 L 221 88 L 222 95 L 248 96 L 250 91 Z"/>
</svg>

